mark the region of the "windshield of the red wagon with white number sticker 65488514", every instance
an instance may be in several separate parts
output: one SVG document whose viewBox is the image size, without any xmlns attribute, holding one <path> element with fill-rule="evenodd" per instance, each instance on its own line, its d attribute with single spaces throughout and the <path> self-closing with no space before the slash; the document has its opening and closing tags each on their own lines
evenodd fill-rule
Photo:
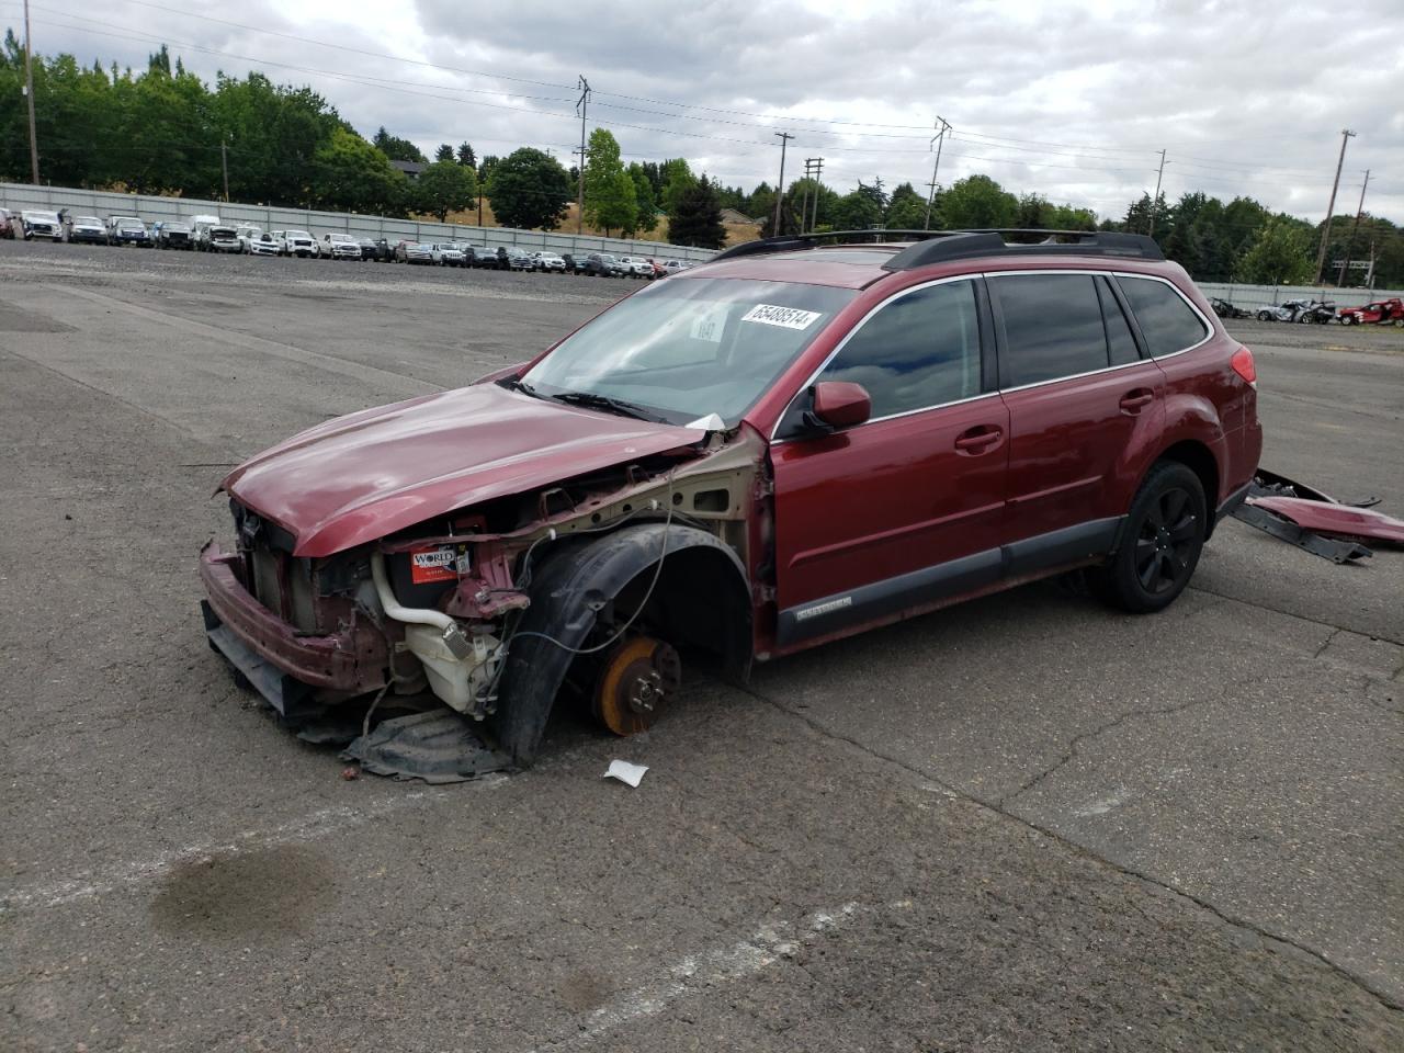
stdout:
<svg viewBox="0 0 1404 1053">
<path fill-rule="evenodd" d="M 567 337 L 522 380 L 605 396 L 674 424 L 736 424 L 855 289 L 698 278 L 651 285 Z"/>
</svg>

